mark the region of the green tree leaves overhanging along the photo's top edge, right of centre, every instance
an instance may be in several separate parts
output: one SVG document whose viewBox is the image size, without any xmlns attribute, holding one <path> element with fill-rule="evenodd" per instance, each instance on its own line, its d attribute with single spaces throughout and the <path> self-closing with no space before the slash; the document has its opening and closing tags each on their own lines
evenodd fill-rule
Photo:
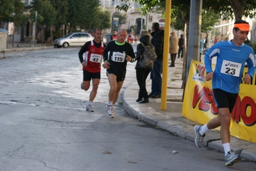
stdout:
<svg viewBox="0 0 256 171">
<path fill-rule="evenodd" d="M 129 0 L 124 1 L 123 6 L 117 6 L 119 10 L 128 10 L 130 6 Z M 142 12 L 145 14 L 147 12 L 161 13 L 165 9 L 165 0 L 133 0 L 142 4 Z M 183 12 L 190 11 L 191 1 L 186 0 L 173 0 L 172 8 L 183 9 Z M 250 17 L 253 19 L 256 16 L 255 13 L 256 1 L 255 0 L 203 0 L 204 10 L 213 10 L 219 14 L 219 18 L 223 20 L 226 19 L 242 19 L 243 16 Z"/>
</svg>

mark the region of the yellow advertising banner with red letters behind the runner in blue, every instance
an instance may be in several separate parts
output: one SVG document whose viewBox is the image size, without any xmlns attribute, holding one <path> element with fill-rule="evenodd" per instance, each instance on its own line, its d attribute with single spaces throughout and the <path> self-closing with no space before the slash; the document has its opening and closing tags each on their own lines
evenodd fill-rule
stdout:
<svg viewBox="0 0 256 171">
<path fill-rule="evenodd" d="M 215 65 L 212 65 L 215 69 Z M 247 68 L 244 69 L 246 74 Z M 212 95 L 212 81 L 205 81 L 205 65 L 191 61 L 185 87 L 182 116 L 206 124 L 218 115 L 218 108 Z M 231 113 L 230 134 L 237 138 L 256 143 L 256 79 L 241 86 L 237 101 Z M 219 128 L 218 128 L 219 129 Z"/>
</svg>

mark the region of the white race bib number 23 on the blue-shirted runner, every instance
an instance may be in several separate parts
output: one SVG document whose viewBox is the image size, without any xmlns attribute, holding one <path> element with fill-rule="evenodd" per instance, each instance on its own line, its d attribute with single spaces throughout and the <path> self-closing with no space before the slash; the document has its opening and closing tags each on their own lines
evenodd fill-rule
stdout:
<svg viewBox="0 0 256 171">
<path fill-rule="evenodd" d="M 241 67 L 241 63 L 223 60 L 221 65 L 221 73 L 239 77 Z"/>
</svg>

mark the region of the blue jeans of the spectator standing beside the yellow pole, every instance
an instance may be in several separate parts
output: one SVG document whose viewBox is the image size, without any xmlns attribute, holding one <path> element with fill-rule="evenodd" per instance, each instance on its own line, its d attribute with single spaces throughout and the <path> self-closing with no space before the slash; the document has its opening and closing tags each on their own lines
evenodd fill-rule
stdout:
<svg viewBox="0 0 256 171">
<path fill-rule="evenodd" d="M 162 89 L 162 60 L 155 60 L 153 69 L 150 73 L 150 79 L 152 79 L 151 83 L 151 94 L 161 95 L 161 89 Z"/>
</svg>

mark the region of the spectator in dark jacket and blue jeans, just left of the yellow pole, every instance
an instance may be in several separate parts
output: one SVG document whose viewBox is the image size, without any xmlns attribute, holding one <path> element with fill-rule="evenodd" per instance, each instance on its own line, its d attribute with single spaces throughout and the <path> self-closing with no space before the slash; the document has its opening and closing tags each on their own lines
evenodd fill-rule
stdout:
<svg viewBox="0 0 256 171">
<path fill-rule="evenodd" d="M 163 50 L 164 50 L 164 31 L 160 29 L 158 22 L 153 22 L 151 26 L 151 44 L 155 47 L 155 53 L 157 54 L 157 60 L 153 63 L 153 69 L 151 70 L 150 78 L 151 93 L 148 97 L 161 98 L 162 88 L 162 64 L 163 64 Z"/>
</svg>

